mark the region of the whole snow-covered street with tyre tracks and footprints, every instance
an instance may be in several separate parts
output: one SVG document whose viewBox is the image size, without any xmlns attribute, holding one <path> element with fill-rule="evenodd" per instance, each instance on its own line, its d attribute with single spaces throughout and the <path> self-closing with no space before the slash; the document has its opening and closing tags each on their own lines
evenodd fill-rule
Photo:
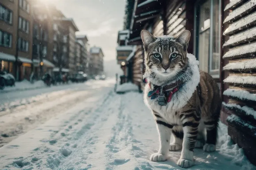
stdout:
<svg viewBox="0 0 256 170">
<path fill-rule="evenodd" d="M 176 164 L 180 151 L 170 152 L 166 162 L 149 160 L 159 145 L 153 116 L 141 93 L 118 95 L 114 83 L 0 93 L 0 169 L 181 169 Z M 195 149 L 194 158 L 192 170 L 256 169 L 232 144 L 224 124 L 217 151 Z"/>
</svg>

